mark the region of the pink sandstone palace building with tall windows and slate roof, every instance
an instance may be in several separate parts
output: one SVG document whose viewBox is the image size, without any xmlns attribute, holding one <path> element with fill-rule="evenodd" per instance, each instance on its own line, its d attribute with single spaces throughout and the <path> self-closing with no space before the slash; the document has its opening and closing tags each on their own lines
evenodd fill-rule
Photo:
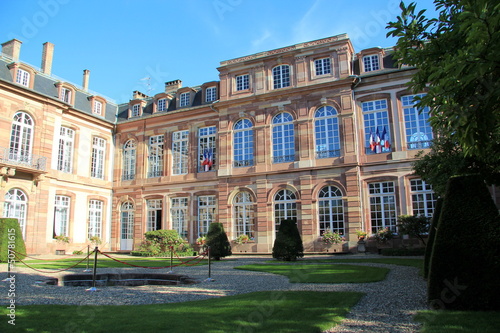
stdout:
<svg viewBox="0 0 500 333">
<path fill-rule="evenodd" d="M 220 63 L 219 80 L 118 104 L 0 57 L 0 216 L 19 219 L 29 253 L 68 251 L 97 236 L 110 251 L 175 229 L 194 244 L 221 222 L 233 253 L 270 253 L 296 218 L 307 252 L 356 251 L 356 230 L 396 231 L 402 214 L 432 215 L 435 195 L 412 162 L 433 138 L 391 49 L 356 53 L 346 34 Z M 420 112 L 421 111 L 421 112 Z M 327 248 L 326 230 L 345 242 Z"/>
</svg>

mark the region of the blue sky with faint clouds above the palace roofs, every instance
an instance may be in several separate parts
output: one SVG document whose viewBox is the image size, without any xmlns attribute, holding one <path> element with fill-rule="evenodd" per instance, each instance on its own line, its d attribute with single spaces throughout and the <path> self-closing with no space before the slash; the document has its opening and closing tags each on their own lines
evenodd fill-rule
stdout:
<svg viewBox="0 0 500 333">
<path fill-rule="evenodd" d="M 416 0 L 432 16 L 432 0 Z M 0 43 L 23 42 L 21 61 L 40 67 L 55 44 L 52 73 L 116 102 L 154 95 L 166 81 L 218 80 L 220 61 L 347 33 L 356 51 L 389 47 L 399 0 L 2 0 Z M 149 78 L 149 79 L 145 79 Z"/>
</svg>

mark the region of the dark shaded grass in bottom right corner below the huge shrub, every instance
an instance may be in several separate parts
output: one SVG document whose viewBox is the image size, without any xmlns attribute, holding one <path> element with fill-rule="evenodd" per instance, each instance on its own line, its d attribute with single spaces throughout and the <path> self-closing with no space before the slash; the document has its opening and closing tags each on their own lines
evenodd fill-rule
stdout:
<svg viewBox="0 0 500 333">
<path fill-rule="evenodd" d="M 498 333 L 500 312 L 420 311 L 421 333 Z"/>
</svg>

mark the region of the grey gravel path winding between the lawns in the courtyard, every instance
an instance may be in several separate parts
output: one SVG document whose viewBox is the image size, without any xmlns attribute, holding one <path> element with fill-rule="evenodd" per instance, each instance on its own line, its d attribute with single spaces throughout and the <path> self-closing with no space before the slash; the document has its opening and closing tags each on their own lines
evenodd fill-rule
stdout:
<svg viewBox="0 0 500 333">
<path fill-rule="evenodd" d="M 355 257 L 357 256 L 343 256 L 340 258 L 352 259 Z M 362 258 L 369 258 L 369 256 L 362 256 Z M 42 274 L 27 269 L 21 263 L 18 263 L 14 271 L 16 275 L 16 305 L 132 305 L 184 302 L 253 291 L 360 291 L 366 293 L 366 295 L 351 309 L 351 312 L 341 325 L 328 332 L 418 332 L 419 325 L 412 322 L 412 317 L 416 311 L 426 308 L 426 284 L 425 280 L 418 276 L 418 270 L 414 267 L 369 263 L 356 264 L 391 269 L 384 281 L 360 284 L 289 283 L 288 278 L 284 276 L 233 269 L 235 266 L 267 260 L 269 260 L 269 257 L 237 257 L 235 259 L 233 256 L 230 259 L 216 261 L 212 265 L 212 278 L 215 280 L 213 282 L 205 281 L 208 277 L 208 266 L 180 266 L 174 267 L 175 274 L 188 275 L 191 278 L 198 279 L 200 283 L 182 286 L 102 287 L 97 292 L 88 292 L 86 287 L 39 284 L 36 281 L 46 277 L 61 278 L 63 274 L 68 274 L 68 272 Z M 0 267 L 1 271 L 5 272 L 6 264 L 2 264 Z M 123 271 L 166 273 L 168 269 L 98 269 L 98 273 L 118 273 Z M 81 273 L 81 269 L 73 270 L 72 273 Z M 0 277 L 2 279 L 6 277 L 6 273 L 3 273 Z M 2 305 L 9 302 L 7 298 L 8 285 L 7 282 L 0 282 L 0 304 Z"/>
</svg>

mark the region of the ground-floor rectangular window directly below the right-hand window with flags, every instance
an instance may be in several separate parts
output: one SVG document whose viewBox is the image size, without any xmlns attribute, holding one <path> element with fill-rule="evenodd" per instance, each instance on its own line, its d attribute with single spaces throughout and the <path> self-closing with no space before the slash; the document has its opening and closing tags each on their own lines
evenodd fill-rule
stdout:
<svg viewBox="0 0 500 333">
<path fill-rule="evenodd" d="M 368 184 L 372 233 L 389 228 L 396 232 L 396 195 L 394 182 Z"/>
</svg>

